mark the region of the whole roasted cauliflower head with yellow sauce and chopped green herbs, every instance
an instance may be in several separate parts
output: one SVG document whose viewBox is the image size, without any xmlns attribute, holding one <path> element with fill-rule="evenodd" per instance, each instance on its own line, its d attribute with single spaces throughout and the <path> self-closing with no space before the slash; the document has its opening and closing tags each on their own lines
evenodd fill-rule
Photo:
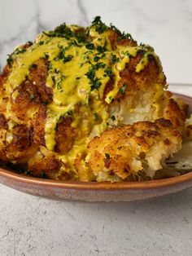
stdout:
<svg viewBox="0 0 192 256">
<path fill-rule="evenodd" d="M 153 178 L 184 134 L 167 87 L 154 49 L 100 17 L 42 32 L 0 76 L 0 160 L 50 179 Z"/>
</svg>

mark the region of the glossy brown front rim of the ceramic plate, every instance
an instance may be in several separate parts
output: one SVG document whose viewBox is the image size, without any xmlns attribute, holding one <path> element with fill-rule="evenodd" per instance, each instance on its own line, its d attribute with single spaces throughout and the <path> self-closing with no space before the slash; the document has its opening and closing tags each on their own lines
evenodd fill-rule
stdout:
<svg viewBox="0 0 192 256">
<path fill-rule="evenodd" d="M 164 188 L 171 185 L 185 183 L 192 180 L 192 171 L 188 174 L 182 174 L 181 176 L 156 179 L 150 181 L 141 182 L 76 182 L 76 181 L 58 181 L 53 179 L 41 179 L 24 176 L 23 174 L 15 174 L 10 170 L 0 168 L 0 176 L 6 179 L 13 179 L 15 182 L 28 183 L 31 185 L 51 186 L 57 188 L 72 188 L 72 189 L 85 189 L 85 190 L 127 190 L 127 189 L 148 189 L 148 188 Z"/>
</svg>

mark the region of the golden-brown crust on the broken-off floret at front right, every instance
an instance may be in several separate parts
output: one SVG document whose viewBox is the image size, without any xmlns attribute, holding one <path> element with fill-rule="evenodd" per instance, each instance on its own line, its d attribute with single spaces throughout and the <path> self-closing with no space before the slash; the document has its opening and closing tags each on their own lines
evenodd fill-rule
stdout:
<svg viewBox="0 0 192 256">
<path fill-rule="evenodd" d="M 145 158 L 146 152 L 161 141 L 164 143 L 165 152 L 171 144 L 181 143 L 181 133 L 173 128 L 171 121 L 164 118 L 155 122 L 138 121 L 132 126 L 106 130 L 88 144 L 89 167 L 95 175 L 103 170 L 126 179 L 137 171 L 137 166 L 130 166 L 133 159 Z"/>
</svg>

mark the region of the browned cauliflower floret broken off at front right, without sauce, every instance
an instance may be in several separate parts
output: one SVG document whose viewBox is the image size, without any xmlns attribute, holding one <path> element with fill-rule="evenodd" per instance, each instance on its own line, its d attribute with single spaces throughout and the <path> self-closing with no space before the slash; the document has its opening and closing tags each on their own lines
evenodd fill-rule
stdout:
<svg viewBox="0 0 192 256">
<path fill-rule="evenodd" d="M 164 160 L 181 148 L 181 141 L 181 132 L 172 127 L 171 121 L 139 121 L 94 138 L 88 145 L 86 161 L 98 181 L 106 177 L 124 180 L 139 170 L 153 177 Z"/>
</svg>

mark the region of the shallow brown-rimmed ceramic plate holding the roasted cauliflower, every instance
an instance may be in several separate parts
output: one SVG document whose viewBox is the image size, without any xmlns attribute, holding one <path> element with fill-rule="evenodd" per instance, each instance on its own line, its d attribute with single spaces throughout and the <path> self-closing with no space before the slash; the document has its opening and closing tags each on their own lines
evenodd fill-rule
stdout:
<svg viewBox="0 0 192 256">
<path fill-rule="evenodd" d="M 177 96 L 189 104 L 189 111 L 192 112 L 192 98 L 184 95 Z M 30 178 L 0 168 L 0 183 L 21 192 L 57 200 L 140 201 L 190 188 L 192 186 L 192 172 L 174 178 L 145 182 L 82 183 Z"/>
</svg>

